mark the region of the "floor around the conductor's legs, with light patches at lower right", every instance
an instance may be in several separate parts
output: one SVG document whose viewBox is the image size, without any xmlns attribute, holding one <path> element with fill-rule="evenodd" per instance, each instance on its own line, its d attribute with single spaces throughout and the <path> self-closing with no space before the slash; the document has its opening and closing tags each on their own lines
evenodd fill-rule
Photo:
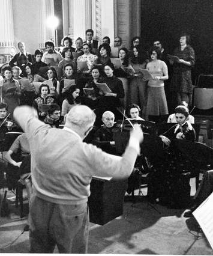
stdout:
<svg viewBox="0 0 213 256">
<path fill-rule="evenodd" d="M 191 195 L 194 195 L 194 178 L 191 178 L 190 184 Z M 185 209 L 167 209 L 159 204 L 149 204 L 145 196 L 146 188 L 142 192 L 143 196 L 136 197 L 135 203 L 130 197 L 125 197 L 122 216 L 103 226 L 90 224 L 89 254 L 213 255 L 205 236 L 197 231 L 196 221 L 183 217 Z M 13 197 L 9 192 L 10 216 L 0 219 L 0 252 L 27 253 L 28 232 L 21 234 L 27 216 L 19 218 L 19 209 L 14 207 Z M 25 213 L 27 211 L 25 204 Z M 58 253 L 57 248 L 55 253 Z"/>
</svg>

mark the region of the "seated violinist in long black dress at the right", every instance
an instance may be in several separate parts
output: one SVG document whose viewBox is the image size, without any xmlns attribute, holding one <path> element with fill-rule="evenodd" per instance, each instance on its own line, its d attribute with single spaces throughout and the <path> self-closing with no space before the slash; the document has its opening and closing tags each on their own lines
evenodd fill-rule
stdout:
<svg viewBox="0 0 213 256">
<path fill-rule="evenodd" d="M 176 144 L 179 140 L 195 141 L 196 133 L 188 122 L 188 115 L 185 106 L 178 106 L 175 109 L 177 124 L 159 136 L 167 147 L 162 147 L 162 143 L 155 145 L 148 183 L 148 200 L 151 203 L 158 200 L 164 206 L 183 209 L 190 201 L 191 172 L 197 168 Z"/>
</svg>

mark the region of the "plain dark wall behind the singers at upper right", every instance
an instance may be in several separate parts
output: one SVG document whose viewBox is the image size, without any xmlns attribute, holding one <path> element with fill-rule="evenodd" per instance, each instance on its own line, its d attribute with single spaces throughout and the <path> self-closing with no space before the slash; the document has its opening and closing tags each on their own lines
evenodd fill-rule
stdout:
<svg viewBox="0 0 213 256">
<path fill-rule="evenodd" d="M 191 35 L 196 52 L 193 80 L 199 73 L 213 73 L 213 1 L 142 0 L 141 37 L 149 47 L 159 38 L 167 52 L 178 46 L 179 32 Z"/>
</svg>

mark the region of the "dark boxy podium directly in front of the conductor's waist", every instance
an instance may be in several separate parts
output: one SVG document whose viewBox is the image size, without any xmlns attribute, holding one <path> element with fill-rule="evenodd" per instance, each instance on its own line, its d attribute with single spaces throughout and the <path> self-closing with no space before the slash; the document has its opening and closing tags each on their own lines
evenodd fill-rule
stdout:
<svg viewBox="0 0 213 256">
<path fill-rule="evenodd" d="M 107 180 L 93 177 L 88 199 L 90 222 L 104 225 L 123 214 L 127 179 Z"/>
</svg>

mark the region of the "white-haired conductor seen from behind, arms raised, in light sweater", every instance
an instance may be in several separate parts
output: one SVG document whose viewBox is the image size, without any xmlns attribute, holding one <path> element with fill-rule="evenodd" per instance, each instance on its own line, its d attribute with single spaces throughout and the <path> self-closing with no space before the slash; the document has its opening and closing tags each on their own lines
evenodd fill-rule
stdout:
<svg viewBox="0 0 213 256">
<path fill-rule="evenodd" d="M 28 137 L 31 151 L 29 251 L 52 253 L 57 245 L 60 253 L 86 253 L 92 175 L 129 177 L 140 153 L 142 130 L 134 127 L 125 153 L 119 157 L 83 142 L 95 121 L 87 106 L 74 106 L 64 129 L 44 124 L 29 106 L 18 106 L 14 117 Z"/>
</svg>

